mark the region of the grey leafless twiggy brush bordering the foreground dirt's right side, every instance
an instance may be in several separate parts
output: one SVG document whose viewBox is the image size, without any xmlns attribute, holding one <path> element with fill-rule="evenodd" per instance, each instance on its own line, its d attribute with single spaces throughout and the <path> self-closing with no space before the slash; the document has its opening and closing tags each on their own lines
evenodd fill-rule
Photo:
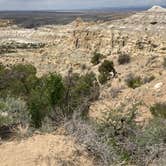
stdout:
<svg viewBox="0 0 166 166">
<path fill-rule="evenodd" d="M 115 154 L 110 153 L 108 145 L 98 135 L 92 124 L 79 118 L 73 118 L 65 124 L 65 129 L 74 136 L 78 143 L 84 145 L 88 154 L 94 157 L 95 165 L 107 166 L 112 164 L 111 161 Z"/>
</svg>

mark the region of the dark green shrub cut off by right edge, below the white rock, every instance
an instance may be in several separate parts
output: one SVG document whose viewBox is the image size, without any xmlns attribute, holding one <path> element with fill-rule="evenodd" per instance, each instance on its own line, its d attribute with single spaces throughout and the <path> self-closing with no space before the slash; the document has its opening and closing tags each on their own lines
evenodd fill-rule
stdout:
<svg viewBox="0 0 166 166">
<path fill-rule="evenodd" d="M 152 115 L 166 119 L 166 103 L 156 103 L 150 107 Z"/>
</svg>

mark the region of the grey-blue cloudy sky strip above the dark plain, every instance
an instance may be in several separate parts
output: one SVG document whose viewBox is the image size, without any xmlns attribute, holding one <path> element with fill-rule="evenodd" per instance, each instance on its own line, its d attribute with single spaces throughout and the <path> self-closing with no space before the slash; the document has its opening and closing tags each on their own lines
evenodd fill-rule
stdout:
<svg viewBox="0 0 166 166">
<path fill-rule="evenodd" d="M 56 10 L 166 5 L 166 0 L 0 0 L 0 10 Z"/>
</svg>

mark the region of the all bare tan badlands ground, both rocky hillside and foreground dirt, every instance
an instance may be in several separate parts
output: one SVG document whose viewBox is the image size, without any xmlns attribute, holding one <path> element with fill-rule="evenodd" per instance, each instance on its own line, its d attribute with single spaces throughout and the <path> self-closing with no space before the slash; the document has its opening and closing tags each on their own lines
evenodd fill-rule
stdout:
<svg viewBox="0 0 166 166">
<path fill-rule="evenodd" d="M 30 63 L 37 68 L 38 76 L 54 71 L 65 75 L 71 67 L 77 73 L 93 71 L 99 75 L 99 65 L 91 63 L 94 52 L 103 54 L 104 60 L 114 62 L 117 76 L 100 85 L 99 100 L 89 110 L 92 120 L 102 119 L 103 113 L 112 109 L 123 106 L 127 110 L 133 104 L 141 103 L 136 121 L 144 123 L 152 118 L 150 106 L 166 102 L 166 70 L 163 67 L 166 9 L 155 6 L 107 22 L 85 22 L 77 18 L 67 25 L 34 29 L 21 28 L 9 21 L 4 23 L 4 20 L 0 25 L 0 62 L 8 67 Z M 119 65 L 118 57 L 122 53 L 130 56 L 130 63 Z M 125 80 L 132 74 L 139 76 L 144 84 L 129 88 Z M 95 165 L 94 157 L 88 155 L 84 145 L 76 143 L 64 129 L 59 130 L 55 134 L 36 134 L 22 141 L 2 142 L 0 165 Z M 156 161 L 150 164 L 159 165 Z M 165 164 L 164 161 L 160 163 Z"/>
</svg>

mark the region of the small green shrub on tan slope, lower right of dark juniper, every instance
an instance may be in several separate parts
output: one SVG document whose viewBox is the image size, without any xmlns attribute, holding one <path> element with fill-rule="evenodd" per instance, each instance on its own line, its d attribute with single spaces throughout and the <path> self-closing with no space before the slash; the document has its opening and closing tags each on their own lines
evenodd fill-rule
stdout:
<svg viewBox="0 0 166 166">
<path fill-rule="evenodd" d="M 134 76 L 133 74 L 128 75 L 125 81 L 127 86 L 133 89 L 138 88 L 143 84 L 141 77 Z"/>
</svg>

